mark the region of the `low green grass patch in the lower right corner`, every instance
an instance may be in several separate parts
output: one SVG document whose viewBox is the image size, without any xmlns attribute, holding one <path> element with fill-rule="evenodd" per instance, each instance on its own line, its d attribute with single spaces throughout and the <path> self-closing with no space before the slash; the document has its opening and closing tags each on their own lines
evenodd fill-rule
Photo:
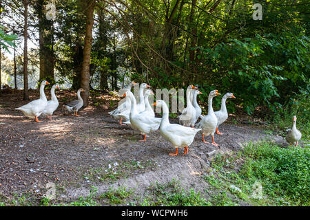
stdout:
<svg viewBox="0 0 310 220">
<path fill-rule="evenodd" d="M 250 143 L 233 155 L 219 155 L 211 166 L 214 172 L 205 175 L 205 181 L 222 193 L 213 196 L 211 203 L 215 206 L 225 205 L 215 201 L 227 200 L 223 195 L 227 191 L 254 206 L 310 204 L 309 147 L 282 148 L 269 142 Z M 254 197 L 254 183 L 262 186 L 262 197 Z"/>
</svg>

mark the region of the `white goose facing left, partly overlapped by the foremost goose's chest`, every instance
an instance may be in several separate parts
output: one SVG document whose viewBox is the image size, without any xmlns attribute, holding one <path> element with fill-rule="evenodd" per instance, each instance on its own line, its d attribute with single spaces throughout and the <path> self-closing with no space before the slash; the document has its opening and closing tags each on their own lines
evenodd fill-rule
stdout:
<svg viewBox="0 0 310 220">
<path fill-rule="evenodd" d="M 136 98 L 134 98 L 134 94 L 132 94 L 131 91 L 126 91 L 123 96 L 128 96 L 130 97 L 130 100 L 132 100 L 132 109 L 130 111 L 130 124 L 132 128 L 141 132 L 144 137 L 141 141 L 146 141 L 146 135 L 148 133 L 158 130 L 159 125 L 161 124 L 161 118 L 138 113 Z"/>
</svg>

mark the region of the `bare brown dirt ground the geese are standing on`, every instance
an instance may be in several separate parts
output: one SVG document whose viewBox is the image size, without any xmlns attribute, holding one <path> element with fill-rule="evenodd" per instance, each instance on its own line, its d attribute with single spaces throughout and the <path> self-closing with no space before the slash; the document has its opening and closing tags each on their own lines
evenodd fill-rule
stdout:
<svg viewBox="0 0 310 220">
<path fill-rule="evenodd" d="M 249 124 L 252 119 L 240 114 L 230 115 L 220 126 L 224 135 L 215 136 L 220 148 L 203 143 L 198 133 L 187 155 L 180 149 L 180 155 L 172 157 L 168 154 L 174 149 L 159 131 L 150 134 L 147 142 L 139 142 L 142 137 L 138 131 L 119 125 L 108 114 L 117 106 L 118 98 L 97 93 L 90 106 L 79 111 L 80 117 L 74 117 L 65 111 L 63 103 L 75 99 L 76 94 L 63 90 L 56 91 L 56 96 L 59 109 L 52 120 L 41 116 L 40 123 L 14 109 L 27 103 L 22 100 L 22 91 L 1 96 L 0 203 L 36 204 L 47 193 L 48 183 L 56 186 L 53 204 L 70 204 L 89 196 L 95 188 L 96 194 L 105 195 L 100 205 L 143 205 L 145 198 L 156 196 L 150 191 L 152 187 L 168 187 L 176 182 L 178 187 L 193 189 L 208 198 L 213 192 L 204 177 L 218 153 L 238 151 L 243 144 L 259 140 L 287 146 L 283 137 Z M 30 91 L 30 100 L 37 97 L 39 91 Z M 240 206 L 253 205 L 236 199 Z"/>
</svg>

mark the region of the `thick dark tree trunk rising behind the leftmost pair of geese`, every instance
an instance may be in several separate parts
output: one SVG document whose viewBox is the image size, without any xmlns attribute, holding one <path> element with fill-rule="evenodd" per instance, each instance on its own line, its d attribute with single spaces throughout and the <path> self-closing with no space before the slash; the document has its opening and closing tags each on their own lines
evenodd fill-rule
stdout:
<svg viewBox="0 0 310 220">
<path fill-rule="evenodd" d="M 39 18 L 39 55 L 40 55 L 40 80 L 54 82 L 54 48 L 53 21 L 45 17 L 46 0 L 37 3 L 37 14 Z"/>
</svg>

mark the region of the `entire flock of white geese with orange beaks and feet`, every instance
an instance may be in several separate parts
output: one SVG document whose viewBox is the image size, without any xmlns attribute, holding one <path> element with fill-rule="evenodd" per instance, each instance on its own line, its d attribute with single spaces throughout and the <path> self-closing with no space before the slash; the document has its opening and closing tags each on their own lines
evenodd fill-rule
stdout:
<svg viewBox="0 0 310 220">
<path fill-rule="evenodd" d="M 143 140 L 146 141 L 147 134 L 157 131 L 159 129 L 161 135 L 165 140 L 172 143 L 175 148 L 174 153 L 169 153 L 169 155 L 178 155 L 178 148 L 184 147 L 184 155 L 188 153 L 188 147 L 194 141 L 194 137 L 198 131 L 202 132 L 203 142 L 208 143 L 205 140 L 205 136 L 211 135 L 212 142 L 215 146 L 218 146 L 214 142 L 214 133 L 218 135 L 223 135 L 218 131 L 218 126 L 225 122 L 228 118 L 228 113 L 226 109 L 227 98 L 236 98 L 234 94 L 227 93 L 223 96 L 221 107 L 219 111 L 214 111 L 212 107 L 212 100 L 214 97 L 220 95 L 217 90 L 210 91 L 208 99 L 208 113 L 207 115 L 201 115 L 201 108 L 197 102 L 197 96 L 202 94 L 198 87 L 189 85 L 186 91 L 187 106 L 178 116 L 180 124 L 170 124 L 169 122 L 169 108 L 164 100 L 156 100 L 154 106 L 161 107 L 163 115 L 162 118 L 156 118 L 154 110 L 149 103 L 149 96 L 154 95 L 149 85 L 142 83 L 139 87 L 139 102 L 137 103 L 134 94 L 132 94 L 131 89 L 135 85 L 134 81 L 130 82 L 125 89 L 123 89 L 123 97 L 125 100 L 122 104 L 118 104 L 118 107 L 113 111 L 110 111 L 116 120 L 119 120 L 121 125 L 130 125 L 132 129 L 138 130 L 143 135 Z M 47 100 L 44 87 L 49 85 L 46 80 L 41 82 L 40 86 L 40 98 L 33 100 L 22 107 L 17 108 L 24 113 L 25 116 L 29 118 L 34 118 L 36 122 L 41 122 L 38 117 L 42 114 L 47 116 L 52 120 L 52 114 L 59 106 L 59 102 L 55 96 L 55 89 L 59 89 L 57 85 L 53 85 L 51 89 L 51 100 Z M 145 90 L 146 89 L 146 90 Z M 83 107 L 83 99 L 80 93 L 84 89 L 79 89 L 77 91 L 78 99 L 72 102 L 64 104 L 68 111 L 74 113 L 75 116 L 79 116 L 77 112 L 81 107 Z M 200 118 L 200 122 L 196 123 Z M 125 122 L 122 122 L 125 121 Z M 298 140 L 301 138 L 301 133 L 296 129 L 296 116 L 293 116 L 293 127 L 287 130 L 286 140 L 289 144 L 295 144 L 297 146 Z"/>
</svg>

